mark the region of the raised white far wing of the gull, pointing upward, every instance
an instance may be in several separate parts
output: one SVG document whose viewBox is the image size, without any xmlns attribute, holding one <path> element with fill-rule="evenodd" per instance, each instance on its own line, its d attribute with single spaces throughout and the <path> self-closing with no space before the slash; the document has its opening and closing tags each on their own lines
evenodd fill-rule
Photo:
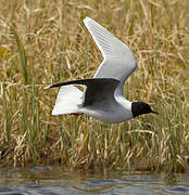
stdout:
<svg viewBox="0 0 189 195">
<path fill-rule="evenodd" d="M 119 80 L 121 84 L 117 92 L 123 94 L 122 88 L 125 80 L 137 68 L 137 62 L 131 50 L 93 20 L 86 17 L 84 24 L 104 57 L 94 77 Z"/>
</svg>

